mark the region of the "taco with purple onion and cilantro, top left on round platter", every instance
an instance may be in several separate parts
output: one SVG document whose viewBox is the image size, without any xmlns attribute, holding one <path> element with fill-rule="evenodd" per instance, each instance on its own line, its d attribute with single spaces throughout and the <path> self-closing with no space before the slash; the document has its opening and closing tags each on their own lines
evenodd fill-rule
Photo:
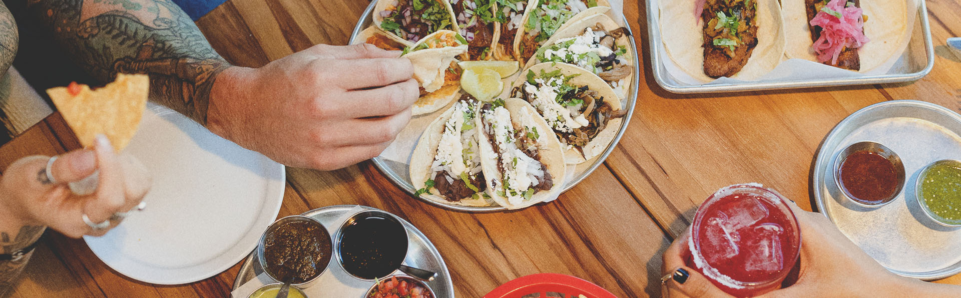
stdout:
<svg viewBox="0 0 961 298">
<path fill-rule="evenodd" d="M 373 17 L 374 26 L 409 42 L 439 30 L 457 31 L 454 12 L 444 0 L 380 0 Z"/>
</svg>

